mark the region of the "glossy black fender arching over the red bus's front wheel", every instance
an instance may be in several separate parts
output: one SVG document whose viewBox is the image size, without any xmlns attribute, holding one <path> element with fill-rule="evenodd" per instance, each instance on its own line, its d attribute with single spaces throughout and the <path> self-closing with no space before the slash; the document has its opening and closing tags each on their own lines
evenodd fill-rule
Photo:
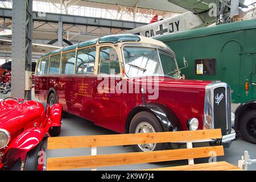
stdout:
<svg viewBox="0 0 256 182">
<path fill-rule="evenodd" d="M 149 111 L 154 114 L 158 119 L 160 125 L 163 128 L 163 131 L 179 131 L 181 130 L 179 119 L 177 119 L 175 113 L 170 110 L 168 107 L 158 104 L 158 103 L 149 103 L 146 105 L 139 105 L 135 107 L 129 114 L 130 121 L 135 114 L 139 111 Z M 126 122 L 126 132 L 128 133 L 130 122 Z"/>
</svg>

